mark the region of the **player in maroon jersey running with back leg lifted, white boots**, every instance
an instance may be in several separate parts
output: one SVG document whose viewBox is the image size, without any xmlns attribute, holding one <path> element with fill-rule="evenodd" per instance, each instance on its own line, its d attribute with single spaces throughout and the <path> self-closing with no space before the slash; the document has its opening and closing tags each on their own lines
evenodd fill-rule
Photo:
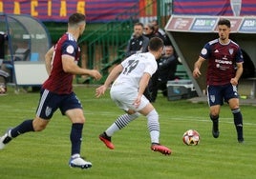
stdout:
<svg viewBox="0 0 256 179">
<path fill-rule="evenodd" d="M 68 31 L 58 40 L 45 55 L 46 70 L 49 78 L 41 89 L 41 98 L 34 119 L 25 120 L 13 129 L 9 129 L 0 138 L 0 149 L 11 139 L 29 131 L 41 131 L 47 127 L 54 111 L 60 109 L 72 122 L 70 140 L 72 144 L 69 165 L 73 168 L 87 169 L 92 163 L 80 157 L 82 129 L 85 122 L 80 101 L 73 91 L 74 74 L 90 75 L 96 80 L 101 78 L 97 70 L 81 69 L 77 66 L 80 49 L 77 39 L 86 26 L 85 15 L 74 13 L 69 17 Z"/>
</svg>

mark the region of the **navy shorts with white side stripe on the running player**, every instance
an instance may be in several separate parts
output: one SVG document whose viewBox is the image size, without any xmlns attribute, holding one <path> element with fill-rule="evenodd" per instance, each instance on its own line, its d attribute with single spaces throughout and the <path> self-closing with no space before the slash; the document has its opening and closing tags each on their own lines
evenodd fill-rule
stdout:
<svg viewBox="0 0 256 179">
<path fill-rule="evenodd" d="M 74 92 L 70 94 L 56 94 L 48 89 L 41 89 L 36 116 L 43 119 L 51 119 L 56 109 L 60 109 L 61 113 L 65 115 L 68 109 L 82 109 L 82 105 Z"/>
</svg>

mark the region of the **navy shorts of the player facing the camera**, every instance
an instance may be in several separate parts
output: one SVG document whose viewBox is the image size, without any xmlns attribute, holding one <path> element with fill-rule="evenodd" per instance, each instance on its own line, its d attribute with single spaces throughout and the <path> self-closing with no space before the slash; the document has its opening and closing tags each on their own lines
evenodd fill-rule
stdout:
<svg viewBox="0 0 256 179">
<path fill-rule="evenodd" d="M 231 84 L 207 87 L 207 100 L 210 107 L 224 105 L 224 102 L 228 102 L 229 99 L 238 97 L 237 87 Z"/>
</svg>

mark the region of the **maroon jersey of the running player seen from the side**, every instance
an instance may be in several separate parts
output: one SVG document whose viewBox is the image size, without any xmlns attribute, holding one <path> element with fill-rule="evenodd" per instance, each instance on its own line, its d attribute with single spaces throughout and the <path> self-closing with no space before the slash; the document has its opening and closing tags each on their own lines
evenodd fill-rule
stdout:
<svg viewBox="0 0 256 179">
<path fill-rule="evenodd" d="M 57 94 L 69 94 L 73 91 L 73 74 L 65 72 L 62 68 L 62 55 L 71 55 L 77 64 L 80 49 L 75 38 L 70 33 L 65 33 L 54 46 L 52 70 L 49 78 L 44 82 L 43 89 L 48 89 Z"/>
</svg>

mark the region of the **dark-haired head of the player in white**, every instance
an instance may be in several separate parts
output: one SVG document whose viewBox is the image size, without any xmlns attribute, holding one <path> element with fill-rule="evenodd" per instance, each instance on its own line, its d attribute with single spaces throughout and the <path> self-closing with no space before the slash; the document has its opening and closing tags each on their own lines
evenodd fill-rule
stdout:
<svg viewBox="0 0 256 179">
<path fill-rule="evenodd" d="M 159 59 L 163 50 L 163 41 L 160 37 L 153 37 L 149 41 L 148 50 L 152 52 L 156 59 Z"/>
</svg>

